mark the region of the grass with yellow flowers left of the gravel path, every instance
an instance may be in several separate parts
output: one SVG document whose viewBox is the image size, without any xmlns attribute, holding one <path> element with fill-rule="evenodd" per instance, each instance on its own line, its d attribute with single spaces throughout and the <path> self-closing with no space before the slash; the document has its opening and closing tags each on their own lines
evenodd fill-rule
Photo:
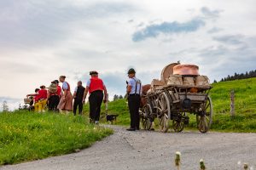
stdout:
<svg viewBox="0 0 256 170">
<path fill-rule="evenodd" d="M 72 153 L 113 133 L 85 116 L 27 111 L 0 113 L 0 129 L 0 165 Z"/>
</svg>

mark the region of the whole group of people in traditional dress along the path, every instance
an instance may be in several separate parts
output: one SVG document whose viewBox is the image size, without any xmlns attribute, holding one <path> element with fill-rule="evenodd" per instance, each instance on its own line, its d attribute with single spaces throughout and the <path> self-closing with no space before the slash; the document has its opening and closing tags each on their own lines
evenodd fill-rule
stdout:
<svg viewBox="0 0 256 170">
<path fill-rule="evenodd" d="M 131 127 L 127 130 L 135 131 L 140 129 L 139 107 L 142 94 L 142 82 L 137 79 L 136 71 L 128 71 L 129 81 L 127 81 L 126 93 L 128 96 L 128 105 L 131 115 Z M 62 88 L 59 83 L 62 83 Z M 54 87 L 55 90 L 51 90 Z M 66 77 L 61 76 L 59 80 L 51 82 L 47 89 L 41 86 L 35 89 L 35 94 L 27 94 L 34 99 L 34 109 L 37 112 L 45 112 L 48 105 L 49 111 L 59 111 L 60 113 L 69 113 L 73 111 L 76 115 L 79 107 L 79 115 L 82 114 L 84 101 L 88 94 L 90 105 L 90 123 L 99 123 L 102 102 L 108 101 L 108 91 L 101 78 L 98 77 L 97 71 L 90 71 L 90 79 L 84 88 L 82 82 L 78 82 L 74 93 L 71 93 L 70 85 L 66 82 Z"/>
</svg>

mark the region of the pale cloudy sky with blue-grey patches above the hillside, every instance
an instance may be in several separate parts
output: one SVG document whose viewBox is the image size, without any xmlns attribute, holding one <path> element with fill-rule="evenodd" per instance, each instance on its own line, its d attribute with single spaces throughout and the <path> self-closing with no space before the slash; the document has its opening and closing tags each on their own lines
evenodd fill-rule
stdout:
<svg viewBox="0 0 256 170">
<path fill-rule="evenodd" d="M 178 60 L 212 80 L 255 70 L 254 0 L 0 0 L 0 104 L 61 75 L 74 89 L 99 71 L 125 94 L 127 70 L 143 84 Z"/>
</svg>

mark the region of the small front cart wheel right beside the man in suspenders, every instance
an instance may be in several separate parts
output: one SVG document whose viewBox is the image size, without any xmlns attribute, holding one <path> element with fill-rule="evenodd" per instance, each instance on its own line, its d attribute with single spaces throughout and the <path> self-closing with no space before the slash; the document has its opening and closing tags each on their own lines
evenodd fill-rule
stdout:
<svg viewBox="0 0 256 170">
<path fill-rule="evenodd" d="M 149 118 L 151 115 L 152 115 L 152 108 L 149 104 L 147 104 L 143 107 L 143 111 L 141 113 L 141 123 L 142 123 L 143 129 L 145 130 L 150 130 L 152 126 L 152 122 Z"/>
</svg>

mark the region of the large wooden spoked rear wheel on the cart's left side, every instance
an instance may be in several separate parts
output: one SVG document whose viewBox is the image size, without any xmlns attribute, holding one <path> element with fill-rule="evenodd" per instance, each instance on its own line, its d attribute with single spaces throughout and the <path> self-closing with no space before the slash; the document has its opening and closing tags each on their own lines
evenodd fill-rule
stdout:
<svg viewBox="0 0 256 170">
<path fill-rule="evenodd" d="M 157 112 L 160 124 L 160 130 L 163 133 L 166 133 L 169 128 L 169 117 L 168 113 L 170 112 L 170 101 L 166 95 L 166 93 L 160 94 L 157 99 Z"/>
</svg>

